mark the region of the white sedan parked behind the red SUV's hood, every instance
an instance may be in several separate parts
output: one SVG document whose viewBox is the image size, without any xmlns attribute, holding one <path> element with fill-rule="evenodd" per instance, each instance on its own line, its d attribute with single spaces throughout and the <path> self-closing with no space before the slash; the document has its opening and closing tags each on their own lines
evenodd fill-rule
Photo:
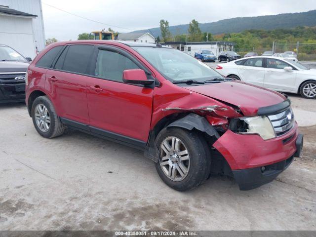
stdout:
<svg viewBox="0 0 316 237">
<path fill-rule="evenodd" d="M 216 71 L 225 77 L 272 90 L 316 98 L 316 70 L 293 60 L 272 56 L 248 57 L 218 64 Z"/>
</svg>

